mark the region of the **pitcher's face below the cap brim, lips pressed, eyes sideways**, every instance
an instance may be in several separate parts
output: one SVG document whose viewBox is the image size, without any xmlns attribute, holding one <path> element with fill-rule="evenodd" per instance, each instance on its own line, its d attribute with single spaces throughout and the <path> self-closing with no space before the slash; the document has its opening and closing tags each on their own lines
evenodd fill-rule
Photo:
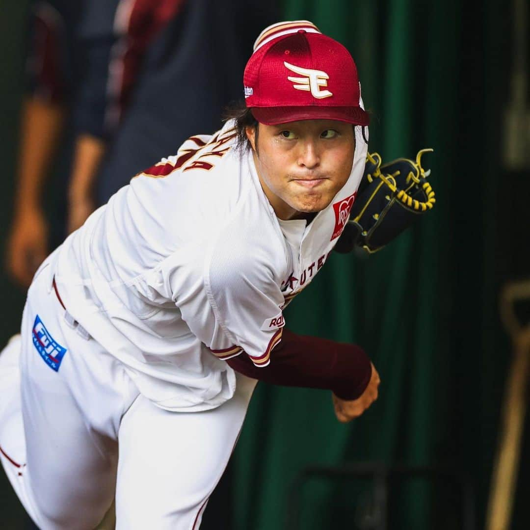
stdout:
<svg viewBox="0 0 530 530">
<path fill-rule="evenodd" d="M 280 219 L 323 210 L 348 180 L 355 154 L 350 123 L 302 120 L 246 129 L 265 195 Z"/>
</svg>

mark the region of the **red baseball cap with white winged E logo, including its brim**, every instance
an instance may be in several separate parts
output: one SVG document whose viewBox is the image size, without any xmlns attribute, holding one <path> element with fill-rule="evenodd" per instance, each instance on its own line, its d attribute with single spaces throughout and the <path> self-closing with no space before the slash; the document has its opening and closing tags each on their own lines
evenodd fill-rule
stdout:
<svg viewBox="0 0 530 530">
<path fill-rule="evenodd" d="M 265 125 L 314 119 L 369 123 L 349 51 L 307 20 L 264 29 L 243 83 L 246 106 Z"/>
</svg>

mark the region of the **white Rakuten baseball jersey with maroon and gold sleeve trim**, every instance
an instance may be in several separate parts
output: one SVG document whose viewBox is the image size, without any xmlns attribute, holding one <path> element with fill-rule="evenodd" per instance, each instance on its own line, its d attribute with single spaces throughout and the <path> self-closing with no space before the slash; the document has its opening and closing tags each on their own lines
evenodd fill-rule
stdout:
<svg viewBox="0 0 530 530">
<path fill-rule="evenodd" d="M 282 310 L 322 268 L 363 175 L 356 127 L 350 177 L 306 226 L 280 221 L 233 122 L 188 139 L 137 175 L 52 258 L 67 311 L 126 365 L 140 392 L 176 411 L 232 397 L 224 359 L 243 350 L 266 366 Z"/>
</svg>

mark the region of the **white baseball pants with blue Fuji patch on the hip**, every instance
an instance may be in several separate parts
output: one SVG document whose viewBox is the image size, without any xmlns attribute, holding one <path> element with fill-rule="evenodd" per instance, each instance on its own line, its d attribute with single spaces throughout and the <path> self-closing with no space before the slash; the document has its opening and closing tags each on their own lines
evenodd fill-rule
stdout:
<svg viewBox="0 0 530 530">
<path fill-rule="evenodd" d="M 114 497 L 118 530 L 196 530 L 256 382 L 238 375 L 213 410 L 160 409 L 67 318 L 51 281 L 44 267 L 0 354 L 0 460 L 22 504 L 41 530 L 91 530 Z"/>
</svg>

